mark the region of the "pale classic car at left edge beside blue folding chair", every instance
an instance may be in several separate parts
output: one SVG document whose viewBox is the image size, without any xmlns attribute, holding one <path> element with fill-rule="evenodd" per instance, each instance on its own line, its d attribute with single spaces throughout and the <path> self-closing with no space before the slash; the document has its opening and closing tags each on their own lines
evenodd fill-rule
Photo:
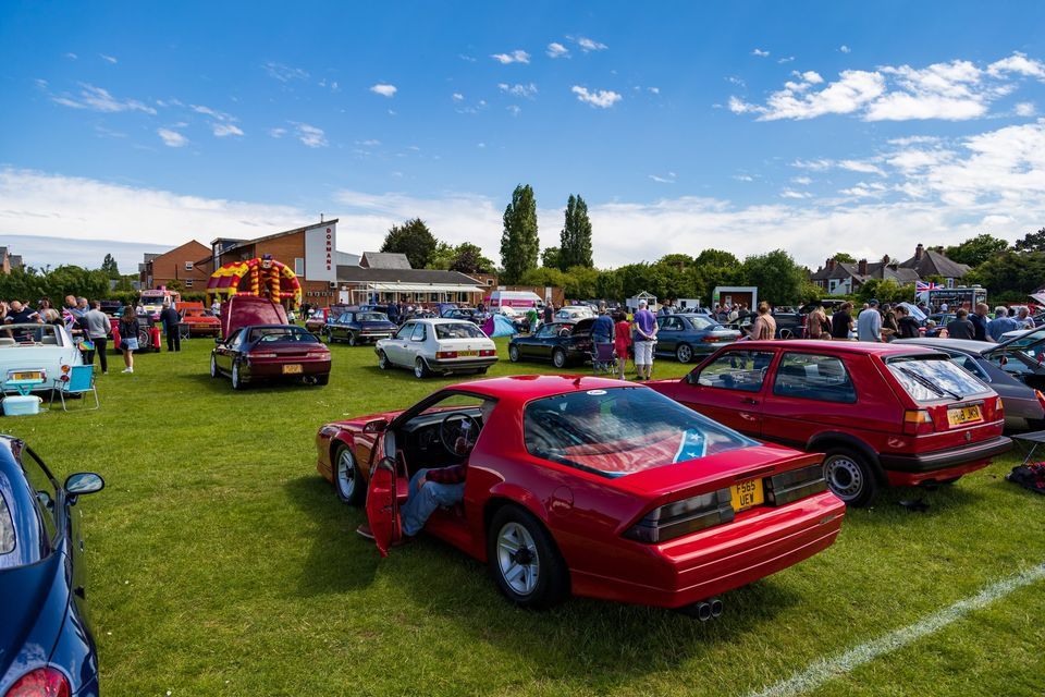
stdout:
<svg viewBox="0 0 1045 697">
<path fill-rule="evenodd" d="M 83 365 L 77 342 L 54 325 L 0 326 L 0 383 L 32 383 L 50 390 L 72 366 Z M 11 384 L 4 388 L 11 392 Z"/>
</svg>

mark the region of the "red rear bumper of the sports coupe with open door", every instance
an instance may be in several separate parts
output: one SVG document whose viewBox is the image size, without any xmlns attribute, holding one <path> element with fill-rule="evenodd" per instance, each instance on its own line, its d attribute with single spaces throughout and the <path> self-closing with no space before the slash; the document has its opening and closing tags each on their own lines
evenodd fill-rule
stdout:
<svg viewBox="0 0 1045 697">
<path fill-rule="evenodd" d="M 639 583 L 571 570 L 574 592 L 661 608 L 680 608 L 746 586 L 808 559 L 835 541 L 846 506 L 825 491 L 727 525 L 646 546 Z M 632 542 L 627 542 L 629 546 Z M 627 557 L 631 557 L 627 554 Z"/>
</svg>

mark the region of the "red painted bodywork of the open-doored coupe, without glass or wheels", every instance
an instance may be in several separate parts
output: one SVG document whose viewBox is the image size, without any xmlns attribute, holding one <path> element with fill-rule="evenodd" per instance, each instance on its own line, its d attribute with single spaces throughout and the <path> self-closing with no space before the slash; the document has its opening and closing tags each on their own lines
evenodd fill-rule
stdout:
<svg viewBox="0 0 1045 697">
<path fill-rule="evenodd" d="M 637 386 L 592 377 L 520 376 L 462 383 L 445 390 L 497 400 L 468 460 L 460 510 L 438 510 L 426 531 L 485 561 L 487 522 L 504 502 L 526 508 L 551 533 L 569 568 L 574 595 L 666 608 L 686 606 L 743 586 L 828 547 L 838 535 L 845 505 L 824 491 L 780 506 L 741 511 L 730 523 L 668 541 L 624 537 L 643 515 L 664 503 L 738 481 L 820 462 L 779 445 L 741 448 L 697 461 L 606 477 L 531 455 L 522 435 L 524 406 L 531 400 L 575 390 Z M 642 389 L 642 388 L 637 388 Z M 406 473 L 378 467 L 384 433 L 369 421 L 393 421 L 403 412 L 323 426 L 317 435 L 319 473 L 333 482 L 333 454 L 353 450 L 366 478 L 374 477 L 367 509 L 379 549 L 398 535 L 396 497 L 405 500 Z M 391 428 L 395 428 L 392 424 Z M 384 461 L 388 464 L 389 461 Z M 390 481 L 390 479 L 394 481 Z M 374 494 L 377 493 L 376 500 Z M 380 527 L 379 529 L 377 529 Z"/>
</svg>

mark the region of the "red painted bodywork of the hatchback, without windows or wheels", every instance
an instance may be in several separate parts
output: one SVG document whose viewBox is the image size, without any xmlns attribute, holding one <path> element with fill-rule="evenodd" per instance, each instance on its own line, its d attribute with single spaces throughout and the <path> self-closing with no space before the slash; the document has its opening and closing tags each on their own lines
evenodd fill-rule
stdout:
<svg viewBox="0 0 1045 697">
<path fill-rule="evenodd" d="M 807 451 L 823 450 L 826 443 L 838 442 L 839 439 L 855 439 L 862 444 L 865 453 L 874 456 L 884 478 L 892 485 L 956 478 L 986 467 L 992 456 L 1010 445 L 1001 435 L 1005 415 L 993 391 L 968 400 L 919 403 L 907 394 L 886 366 L 886 359 L 892 356 L 934 354 L 931 348 L 910 344 L 840 341 L 751 341 L 720 350 L 697 366 L 693 372 L 697 374 L 730 351 L 773 353 L 758 392 L 690 384 L 688 378 L 648 384 L 753 438 Z M 844 404 L 774 394 L 774 378 L 785 353 L 812 353 L 839 358 L 852 381 L 857 402 Z M 982 421 L 951 427 L 947 411 L 959 403 L 981 405 Z M 929 412 L 933 431 L 906 433 L 905 413 L 919 409 Z"/>
</svg>

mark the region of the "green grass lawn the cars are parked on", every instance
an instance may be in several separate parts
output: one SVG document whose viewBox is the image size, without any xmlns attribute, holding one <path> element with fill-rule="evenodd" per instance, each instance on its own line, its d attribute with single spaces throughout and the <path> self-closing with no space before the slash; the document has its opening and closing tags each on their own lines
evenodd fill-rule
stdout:
<svg viewBox="0 0 1045 697">
<path fill-rule="evenodd" d="M 382 372 L 339 344 L 328 387 L 234 393 L 208 376 L 209 340 L 183 345 L 133 376 L 112 357 L 100 411 L 0 418 L 60 477 L 106 477 L 78 504 L 106 695 L 747 695 L 1045 562 L 1045 497 L 1003 480 L 1013 456 L 850 511 L 834 547 L 727 594 L 717 622 L 583 599 L 518 610 L 435 540 L 381 560 L 316 472 L 323 423 L 456 379 Z M 491 376 L 552 371 L 499 345 Z M 897 505 L 912 496 L 930 510 Z M 1040 696 L 1043 617 L 1038 582 L 813 694 Z"/>
</svg>

